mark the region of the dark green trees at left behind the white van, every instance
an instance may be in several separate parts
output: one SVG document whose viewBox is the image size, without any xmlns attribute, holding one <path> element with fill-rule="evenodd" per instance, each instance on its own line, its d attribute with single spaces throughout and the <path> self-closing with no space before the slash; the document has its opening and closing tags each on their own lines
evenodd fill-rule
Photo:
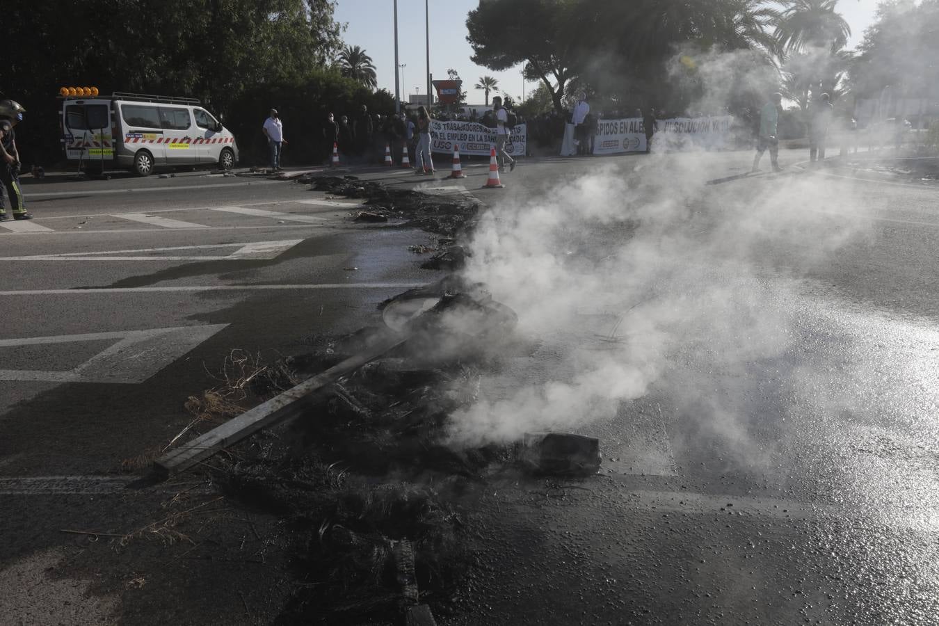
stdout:
<svg viewBox="0 0 939 626">
<path fill-rule="evenodd" d="M 27 109 L 24 157 L 61 157 L 61 86 L 198 98 L 226 126 L 256 134 L 272 94 L 345 82 L 327 78 L 342 44 L 333 8 L 332 0 L 8 0 L 4 42 L 15 52 L 0 90 Z"/>
</svg>

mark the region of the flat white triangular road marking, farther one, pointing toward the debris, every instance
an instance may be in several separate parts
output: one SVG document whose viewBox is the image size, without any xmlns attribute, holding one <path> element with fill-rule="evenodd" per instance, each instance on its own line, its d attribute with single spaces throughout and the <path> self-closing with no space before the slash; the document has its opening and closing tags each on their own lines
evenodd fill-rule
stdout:
<svg viewBox="0 0 939 626">
<path fill-rule="evenodd" d="M 32 256 L 4 256 L 0 261 L 243 261 L 245 259 L 273 259 L 293 248 L 303 239 L 281 241 L 254 241 L 253 243 L 216 243 L 204 246 L 176 246 L 173 248 L 142 248 L 139 250 L 105 250 L 101 252 L 66 252 L 63 254 L 34 254 Z M 210 250 L 238 248 L 231 254 L 220 255 L 162 255 L 149 252 L 176 252 L 180 250 Z M 128 254 L 133 254 L 128 256 Z"/>
</svg>

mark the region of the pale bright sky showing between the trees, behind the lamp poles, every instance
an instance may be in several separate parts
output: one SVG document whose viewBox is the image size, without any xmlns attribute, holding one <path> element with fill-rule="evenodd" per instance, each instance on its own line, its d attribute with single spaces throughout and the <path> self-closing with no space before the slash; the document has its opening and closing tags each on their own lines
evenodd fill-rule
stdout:
<svg viewBox="0 0 939 626">
<path fill-rule="evenodd" d="M 486 75 L 499 79 L 498 89 L 518 99 L 522 95 L 521 66 L 496 72 L 469 60 L 472 49 L 467 43 L 466 19 L 469 10 L 478 4 L 479 0 L 429 0 L 430 72 L 435 80 L 446 79 L 449 68 L 459 72 L 470 104 L 483 103 L 483 91 L 472 86 Z M 878 4 L 878 0 L 839 1 L 839 12 L 851 25 L 849 48 L 856 46 L 864 37 L 864 29 L 873 22 Z M 349 45 L 361 46 L 371 55 L 377 70 L 378 86 L 394 93 L 393 0 L 336 0 L 336 5 L 336 20 L 348 25 L 344 40 Z M 420 87 L 420 93 L 424 93 L 427 68 L 424 0 L 398 0 L 398 62 L 406 66 L 402 70 L 402 99 L 407 99 L 406 94 L 417 93 L 414 87 Z M 537 83 L 526 84 L 526 95 L 536 86 Z M 492 98 L 491 93 L 489 97 Z"/>
</svg>

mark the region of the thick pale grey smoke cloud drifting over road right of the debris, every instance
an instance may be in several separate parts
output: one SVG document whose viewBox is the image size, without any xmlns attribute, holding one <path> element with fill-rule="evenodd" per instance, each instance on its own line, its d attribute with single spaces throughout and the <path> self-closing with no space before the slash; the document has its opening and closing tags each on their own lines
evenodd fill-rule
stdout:
<svg viewBox="0 0 939 626">
<path fill-rule="evenodd" d="M 702 75 L 719 84 L 723 68 L 747 83 L 733 61 L 712 59 Z M 703 93 L 713 109 L 716 89 Z M 651 389 L 746 442 L 739 399 L 759 392 L 750 368 L 793 348 L 805 279 L 868 230 L 851 194 L 821 177 L 704 185 L 751 160 L 593 160 L 590 175 L 502 196 L 478 225 L 466 272 L 515 309 L 535 349 L 484 380 L 479 402 L 452 416 L 450 442 L 577 431 Z M 779 384 L 804 380 L 791 374 Z"/>
</svg>

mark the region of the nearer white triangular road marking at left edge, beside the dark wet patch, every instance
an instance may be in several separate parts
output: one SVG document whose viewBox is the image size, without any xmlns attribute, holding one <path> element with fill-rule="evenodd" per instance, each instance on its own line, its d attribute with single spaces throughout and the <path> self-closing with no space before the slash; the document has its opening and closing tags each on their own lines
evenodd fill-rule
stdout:
<svg viewBox="0 0 939 626">
<path fill-rule="evenodd" d="M 0 380 L 38 380 L 53 383 L 142 383 L 227 326 L 227 324 L 213 324 L 4 339 L 0 340 L 0 348 L 20 345 L 71 344 L 109 339 L 115 339 L 117 342 L 68 371 L 0 370 Z"/>
</svg>

